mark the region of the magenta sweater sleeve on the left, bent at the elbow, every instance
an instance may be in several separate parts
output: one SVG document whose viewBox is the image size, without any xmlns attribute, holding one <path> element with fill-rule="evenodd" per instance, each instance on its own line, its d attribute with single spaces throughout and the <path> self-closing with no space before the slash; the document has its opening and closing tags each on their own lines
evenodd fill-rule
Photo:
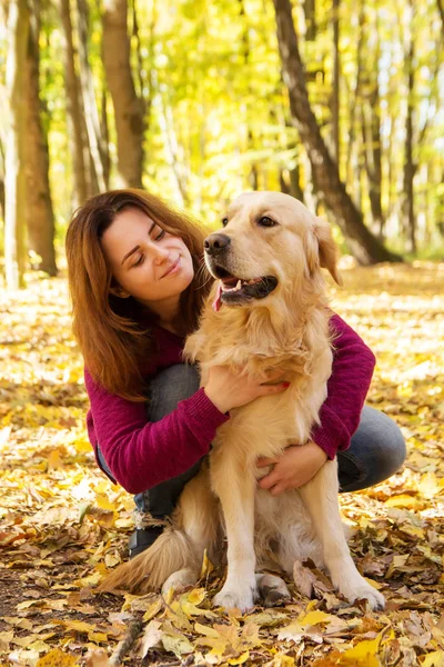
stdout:
<svg viewBox="0 0 444 667">
<path fill-rule="evenodd" d="M 114 479 L 140 494 L 181 475 L 209 452 L 223 415 L 199 389 L 159 421 L 147 421 L 147 406 L 109 394 L 84 374 L 91 402 L 89 434 Z"/>
</svg>

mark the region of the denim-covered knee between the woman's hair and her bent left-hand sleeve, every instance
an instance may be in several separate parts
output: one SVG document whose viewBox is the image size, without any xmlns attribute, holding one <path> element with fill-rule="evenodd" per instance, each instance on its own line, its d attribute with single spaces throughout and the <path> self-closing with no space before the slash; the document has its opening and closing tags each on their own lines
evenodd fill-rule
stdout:
<svg viewBox="0 0 444 667">
<path fill-rule="evenodd" d="M 200 387 L 196 366 L 175 364 L 160 370 L 150 381 L 148 417 L 159 421 L 170 415 L 181 400 L 190 398 Z"/>
</svg>

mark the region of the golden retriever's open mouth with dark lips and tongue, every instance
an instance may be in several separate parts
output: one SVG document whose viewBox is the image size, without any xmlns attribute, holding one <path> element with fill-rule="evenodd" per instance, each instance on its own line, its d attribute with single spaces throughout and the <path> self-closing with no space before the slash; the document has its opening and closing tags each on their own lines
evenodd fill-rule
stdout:
<svg viewBox="0 0 444 667">
<path fill-rule="evenodd" d="M 278 286 L 274 276 L 240 278 L 222 267 L 213 267 L 212 273 L 219 278 L 216 299 L 213 303 L 215 310 L 219 310 L 221 302 L 240 306 L 252 299 L 264 299 Z"/>
</svg>

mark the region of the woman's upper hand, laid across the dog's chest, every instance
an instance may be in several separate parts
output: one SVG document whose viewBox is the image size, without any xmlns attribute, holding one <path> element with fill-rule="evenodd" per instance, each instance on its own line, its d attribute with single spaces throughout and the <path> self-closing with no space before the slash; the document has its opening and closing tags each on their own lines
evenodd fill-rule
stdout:
<svg viewBox="0 0 444 667">
<path fill-rule="evenodd" d="M 282 377 L 282 372 L 270 375 L 266 382 Z M 204 391 L 212 404 L 221 412 L 228 412 L 233 408 L 240 408 L 260 396 L 281 394 L 290 386 L 290 382 L 278 382 L 276 385 L 264 385 L 246 376 L 234 372 L 226 366 L 213 366 L 209 371 L 209 379 Z"/>
</svg>

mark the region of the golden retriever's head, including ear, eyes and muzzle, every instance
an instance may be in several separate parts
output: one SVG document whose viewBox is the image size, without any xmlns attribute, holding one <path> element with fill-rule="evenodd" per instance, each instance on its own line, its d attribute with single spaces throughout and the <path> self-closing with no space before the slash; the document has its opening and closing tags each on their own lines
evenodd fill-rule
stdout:
<svg viewBox="0 0 444 667">
<path fill-rule="evenodd" d="M 220 280 L 218 302 L 246 306 L 312 280 L 326 267 L 336 282 L 336 248 L 326 222 L 281 192 L 245 192 L 223 229 L 205 239 L 205 262 Z"/>
</svg>

